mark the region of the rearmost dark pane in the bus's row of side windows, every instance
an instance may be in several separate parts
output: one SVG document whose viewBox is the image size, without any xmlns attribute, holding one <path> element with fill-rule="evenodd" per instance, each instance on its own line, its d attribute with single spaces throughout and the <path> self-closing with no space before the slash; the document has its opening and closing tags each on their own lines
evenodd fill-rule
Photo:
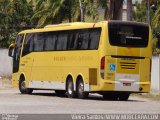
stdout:
<svg viewBox="0 0 160 120">
<path fill-rule="evenodd" d="M 99 40 L 100 40 L 101 29 L 92 29 L 90 32 L 90 50 L 98 49 Z"/>
</svg>

